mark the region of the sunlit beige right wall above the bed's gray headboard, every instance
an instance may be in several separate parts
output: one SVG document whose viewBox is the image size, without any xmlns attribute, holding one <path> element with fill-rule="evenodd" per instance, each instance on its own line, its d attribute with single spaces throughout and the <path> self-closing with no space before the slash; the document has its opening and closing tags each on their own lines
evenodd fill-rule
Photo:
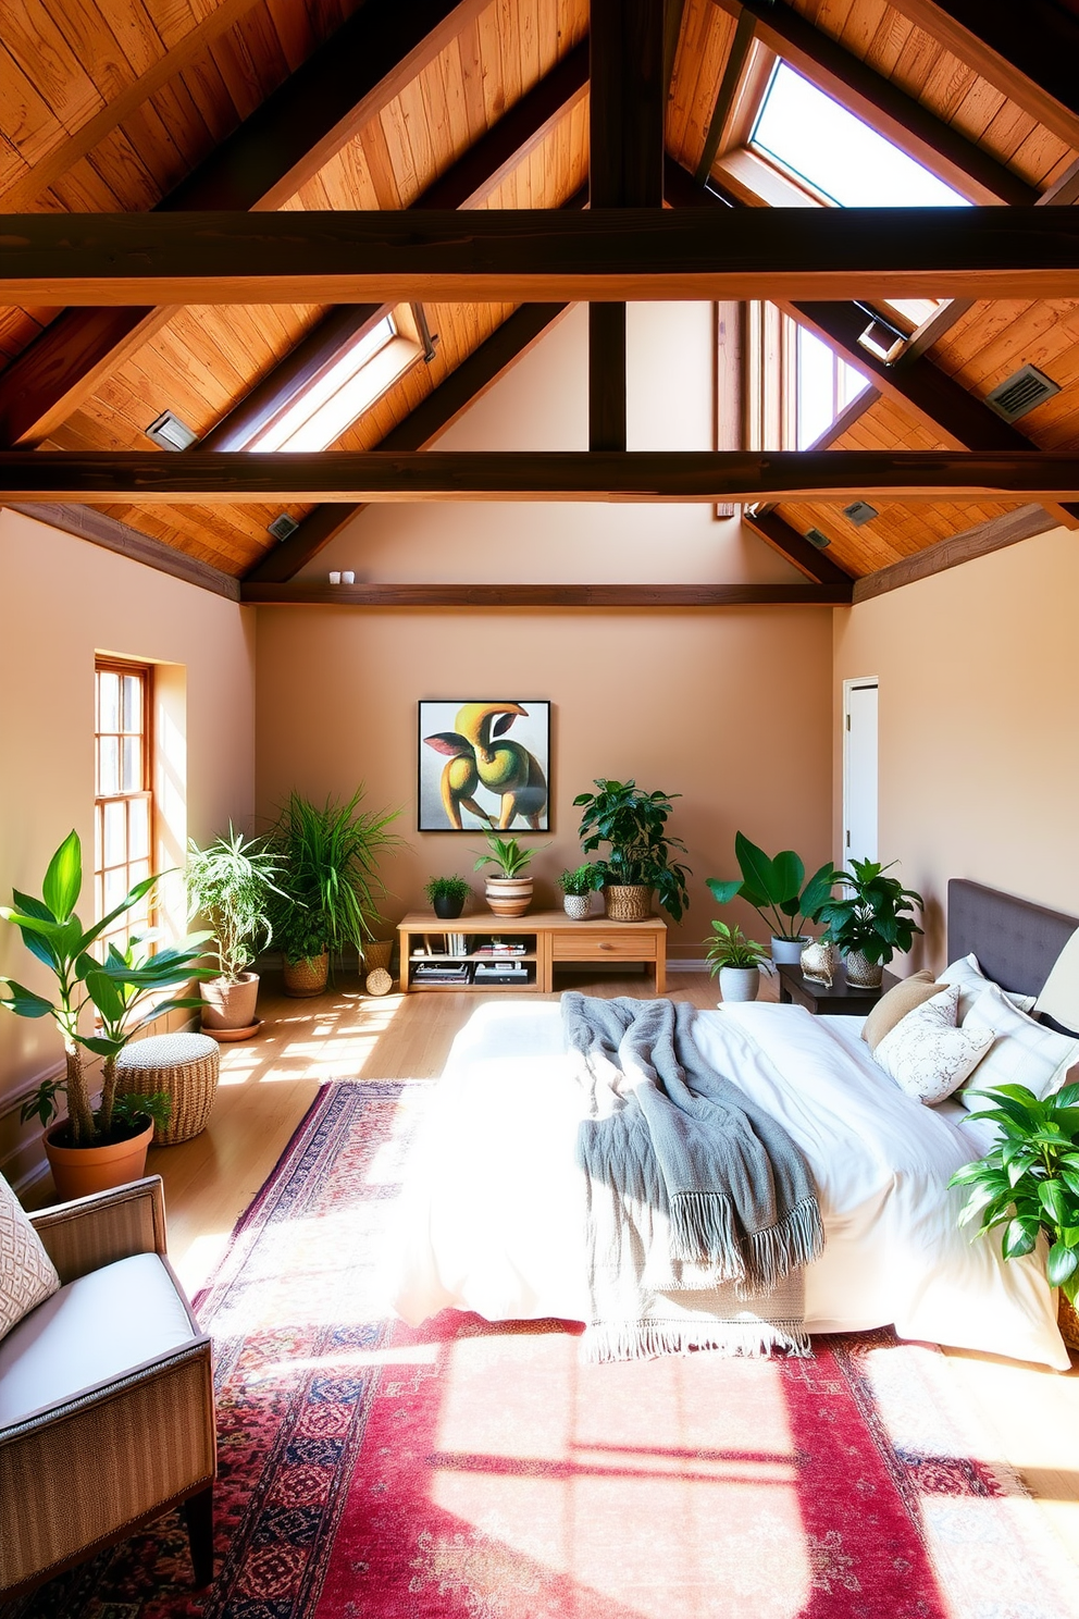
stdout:
<svg viewBox="0 0 1079 1619">
<path fill-rule="evenodd" d="M 880 853 L 927 902 L 948 877 L 1079 913 L 1079 538 L 1053 529 L 835 612 L 835 847 L 843 680 L 880 680 Z"/>
</svg>

